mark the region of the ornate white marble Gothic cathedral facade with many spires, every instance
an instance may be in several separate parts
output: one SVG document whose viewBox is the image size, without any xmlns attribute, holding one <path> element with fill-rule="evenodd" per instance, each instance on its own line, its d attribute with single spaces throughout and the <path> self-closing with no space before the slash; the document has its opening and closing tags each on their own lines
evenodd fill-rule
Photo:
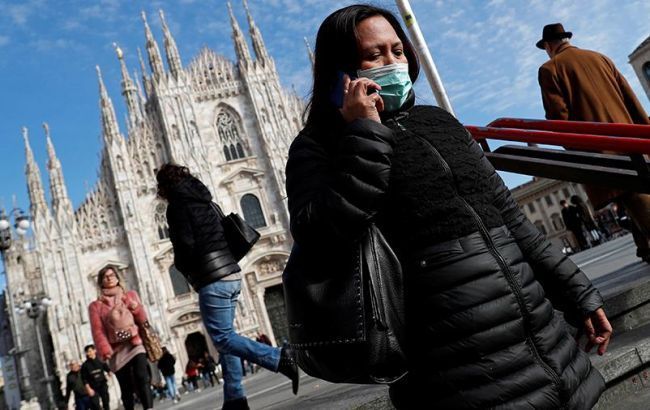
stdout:
<svg viewBox="0 0 650 410">
<path fill-rule="evenodd" d="M 304 104 L 281 87 L 274 60 L 246 2 L 244 6 L 253 52 L 228 5 L 237 60 L 204 48 L 187 66 L 161 12 L 163 63 L 143 13 L 149 69 L 140 56 L 141 78 L 130 76 L 116 46 L 128 114 L 124 132 L 97 68 L 100 172 L 77 209 L 68 198 L 47 124 L 51 203 L 45 200 L 28 132 L 23 131 L 33 238 L 7 253 L 8 283 L 16 300 L 52 299 L 41 325 L 46 356 L 60 385 L 68 361 L 82 358 L 84 346 L 92 342 L 87 307 L 98 294 L 97 273 L 107 265 L 116 266 L 127 287 L 141 295 L 150 322 L 177 357 L 179 377 L 189 357 L 205 349 L 216 354 L 200 319 L 197 295 L 173 267 L 166 205 L 156 197 L 155 182 L 156 168 L 168 161 L 188 166 L 226 213 L 239 213 L 261 233 L 240 262 L 237 330 L 249 336 L 260 331 L 276 343 L 288 338 L 281 285 L 291 248 L 284 165 L 289 144 L 303 125 Z M 25 321 L 15 315 L 14 320 L 17 332 L 33 333 Z M 33 339 L 22 340 L 32 363 L 35 349 L 27 345 Z M 37 381 L 42 374 L 36 373 L 30 373 L 32 386 L 45 403 Z"/>
</svg>

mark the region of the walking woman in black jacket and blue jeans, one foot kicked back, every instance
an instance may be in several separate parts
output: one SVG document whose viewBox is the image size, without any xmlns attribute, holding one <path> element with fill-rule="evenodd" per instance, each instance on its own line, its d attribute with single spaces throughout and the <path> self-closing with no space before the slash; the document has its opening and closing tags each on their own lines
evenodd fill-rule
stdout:
<svg viewBox="0 0 650 410">
<path fill-rule="evenodd" d="M 289 348 L 238 335 L 233 323 L 241 292 L 240 267 L 232 256 L 212 194 L 187 167 L 165 164 L 156 174 L 158 195 L 167 200 L 167 222 L 174 264 L 199 294 L 199 306 L 224 378 L 224 409 L 247 409 L 240 358 L 280 372 L 298 392 L 298 366 Z"/>
</svg>

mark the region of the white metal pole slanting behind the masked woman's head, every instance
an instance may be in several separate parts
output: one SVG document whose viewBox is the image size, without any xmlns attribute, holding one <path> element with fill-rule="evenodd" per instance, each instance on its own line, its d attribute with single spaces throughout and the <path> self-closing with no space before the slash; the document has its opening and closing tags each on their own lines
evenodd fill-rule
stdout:
<svg viewBox="0 0 650 410">
<path fill-rule="evenodd" d="M 436 64 L 433 62 L 427 43 L 424 41 L 424 37 L 422 37 L 422 31 L 420 30 L 418 22 L 415 20 L 415 14 L 413 14 L 413 10 L 411 10 L 409 1 L 396 0 L 396 2 L 399 12 L 404 19 L 404 24 L 406 24 L 406 28 L 411 34 L 411 41 L 413 42 L 415 51 L 420 57 L 422 69 L 427 76 L 427 80 L 429 80 L 431 90 L 433 91 L 433 95 L 436 97 L 438 105 L 453 115 L 454 110 L 451 108 L 451 103 L 449 102 L 449 98 L 447 98 L 445 87 L 442 85 L 438 69 L 436 69 Z"/>
</svg>

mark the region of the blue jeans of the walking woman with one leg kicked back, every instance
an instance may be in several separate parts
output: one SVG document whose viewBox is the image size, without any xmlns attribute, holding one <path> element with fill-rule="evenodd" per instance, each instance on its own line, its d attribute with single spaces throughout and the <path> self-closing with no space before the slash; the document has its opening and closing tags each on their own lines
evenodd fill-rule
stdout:
<svg viewBox="0 0 650 410">
<path fill-rule="evenodd" d="M 241 384 L 241 359 L 278 371 L 280 348 L 265 345 L 235 333 L 235 309 L 241 281 L 216 281 L 199 290 L 199 307 L 203 324 L 219 351 L 223 370 L 224 401 L 245 397 Z"/>
</svg>

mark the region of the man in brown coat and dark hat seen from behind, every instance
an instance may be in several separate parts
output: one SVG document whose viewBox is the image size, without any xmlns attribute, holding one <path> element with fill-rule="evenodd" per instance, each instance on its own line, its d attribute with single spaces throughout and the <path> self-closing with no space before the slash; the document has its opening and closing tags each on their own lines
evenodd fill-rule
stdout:
<svg viewBox="0 0 650 410">
<path fill-rule="evenodd" d="M 549 120 L 650 124 L 623 75 L 606 56 L 569 43 L 572 33 L 562 24 L 544 27 L 537 47 L 550 60 L 539 68 L 539 85 Z M 650 262 L 650 195 L 586 186 L 594 208 L 619 201 L 635 222 L 637 256 Z"/>
</svg>

